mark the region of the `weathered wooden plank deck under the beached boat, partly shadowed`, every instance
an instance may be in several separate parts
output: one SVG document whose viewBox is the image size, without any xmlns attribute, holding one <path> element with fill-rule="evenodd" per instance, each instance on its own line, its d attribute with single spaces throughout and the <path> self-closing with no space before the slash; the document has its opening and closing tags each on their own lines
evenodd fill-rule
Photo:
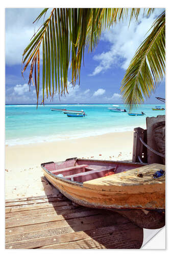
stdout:
<svg viewBox="0 0 170 256">
<path fill-rule="evenodd" d="M 62 194 L 6 200 L 6 249 L 137 249 L 143 229 Z"/>
</svg>

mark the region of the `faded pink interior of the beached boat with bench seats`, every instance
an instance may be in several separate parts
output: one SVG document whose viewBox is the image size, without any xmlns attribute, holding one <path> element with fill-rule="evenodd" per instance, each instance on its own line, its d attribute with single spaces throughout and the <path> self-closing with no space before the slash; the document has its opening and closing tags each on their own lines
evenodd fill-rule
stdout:
<svg viewBox="0 0 170 256">
<path fill-rule="evenodd" d="M 71 159 L 62 162 L 49 162 L 41 164 L 43 169 L 53 175 L 70 181 L 85 182 L 108 175 L 125 172 L 143 164 L 130 162 L 114 162 L 102 160 Z"/>
</svg>

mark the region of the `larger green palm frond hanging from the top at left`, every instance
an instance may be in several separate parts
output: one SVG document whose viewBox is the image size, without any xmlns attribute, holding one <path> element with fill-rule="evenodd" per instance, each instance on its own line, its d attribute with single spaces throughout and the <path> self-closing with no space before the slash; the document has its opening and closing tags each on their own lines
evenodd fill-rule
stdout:
<svg viewBox="0 0 170 256">
<path fill-rule="evenodd" d="M 35 21 L 38 21 L 47 10 L 48 8 L 45 8 Z M 146 10 L 145 15 L 149 16 L 154 9 L 144 10 Z M 46 98 L 49 94 L 53 98 L 57 89 L 59 95 L 68 92 L 67 77 L 70 59 L 71 83 L 75 86 L 78 78 L 80 83 L 85 47 L 92 51 L 98 45 L 104 29 L 128 18 L 129 12 L 130 22 L 132 18 L 137 20 L 140 11 L 140 8 L 54 8 L 50 17 L 34 34 L 22 55 L 25 65 L 22 75 L 30 67 L 29 84 L 33 81 L 34 70 L 33 83 L 36 86 L 37 102 L 40 87 L 37 79 L 40 79 L 39 52 L 41 47 L 42 102 L 44 103 L 45 90 Z"/>
</svg>

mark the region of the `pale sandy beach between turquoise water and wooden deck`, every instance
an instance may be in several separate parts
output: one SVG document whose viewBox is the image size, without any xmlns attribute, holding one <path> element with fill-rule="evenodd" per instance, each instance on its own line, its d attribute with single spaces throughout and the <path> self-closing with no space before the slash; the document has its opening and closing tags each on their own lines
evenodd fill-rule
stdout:
<svg viewBox="0 0 170 256">
<path fill-rule="evenodd" d="M 133 132 L 6 146 L 6 199 L 34 197 L 55 193 L 55 188 L 43 180 L 41 163 L 78 157 L 103 160 L 131 160 Z"/>
</svg>

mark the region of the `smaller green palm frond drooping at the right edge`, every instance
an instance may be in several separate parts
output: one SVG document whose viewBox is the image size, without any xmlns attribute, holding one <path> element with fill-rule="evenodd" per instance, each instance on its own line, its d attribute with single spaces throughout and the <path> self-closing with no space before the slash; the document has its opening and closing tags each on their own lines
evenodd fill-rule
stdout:
<svg viewBox="0 0 170 256">
<path fill-rule="evenodd" d="M 130 110 L 149 98 L 165 73 L 165 12 L 155 20 L 126 71 L 121 93 Z"/>
</svg>

